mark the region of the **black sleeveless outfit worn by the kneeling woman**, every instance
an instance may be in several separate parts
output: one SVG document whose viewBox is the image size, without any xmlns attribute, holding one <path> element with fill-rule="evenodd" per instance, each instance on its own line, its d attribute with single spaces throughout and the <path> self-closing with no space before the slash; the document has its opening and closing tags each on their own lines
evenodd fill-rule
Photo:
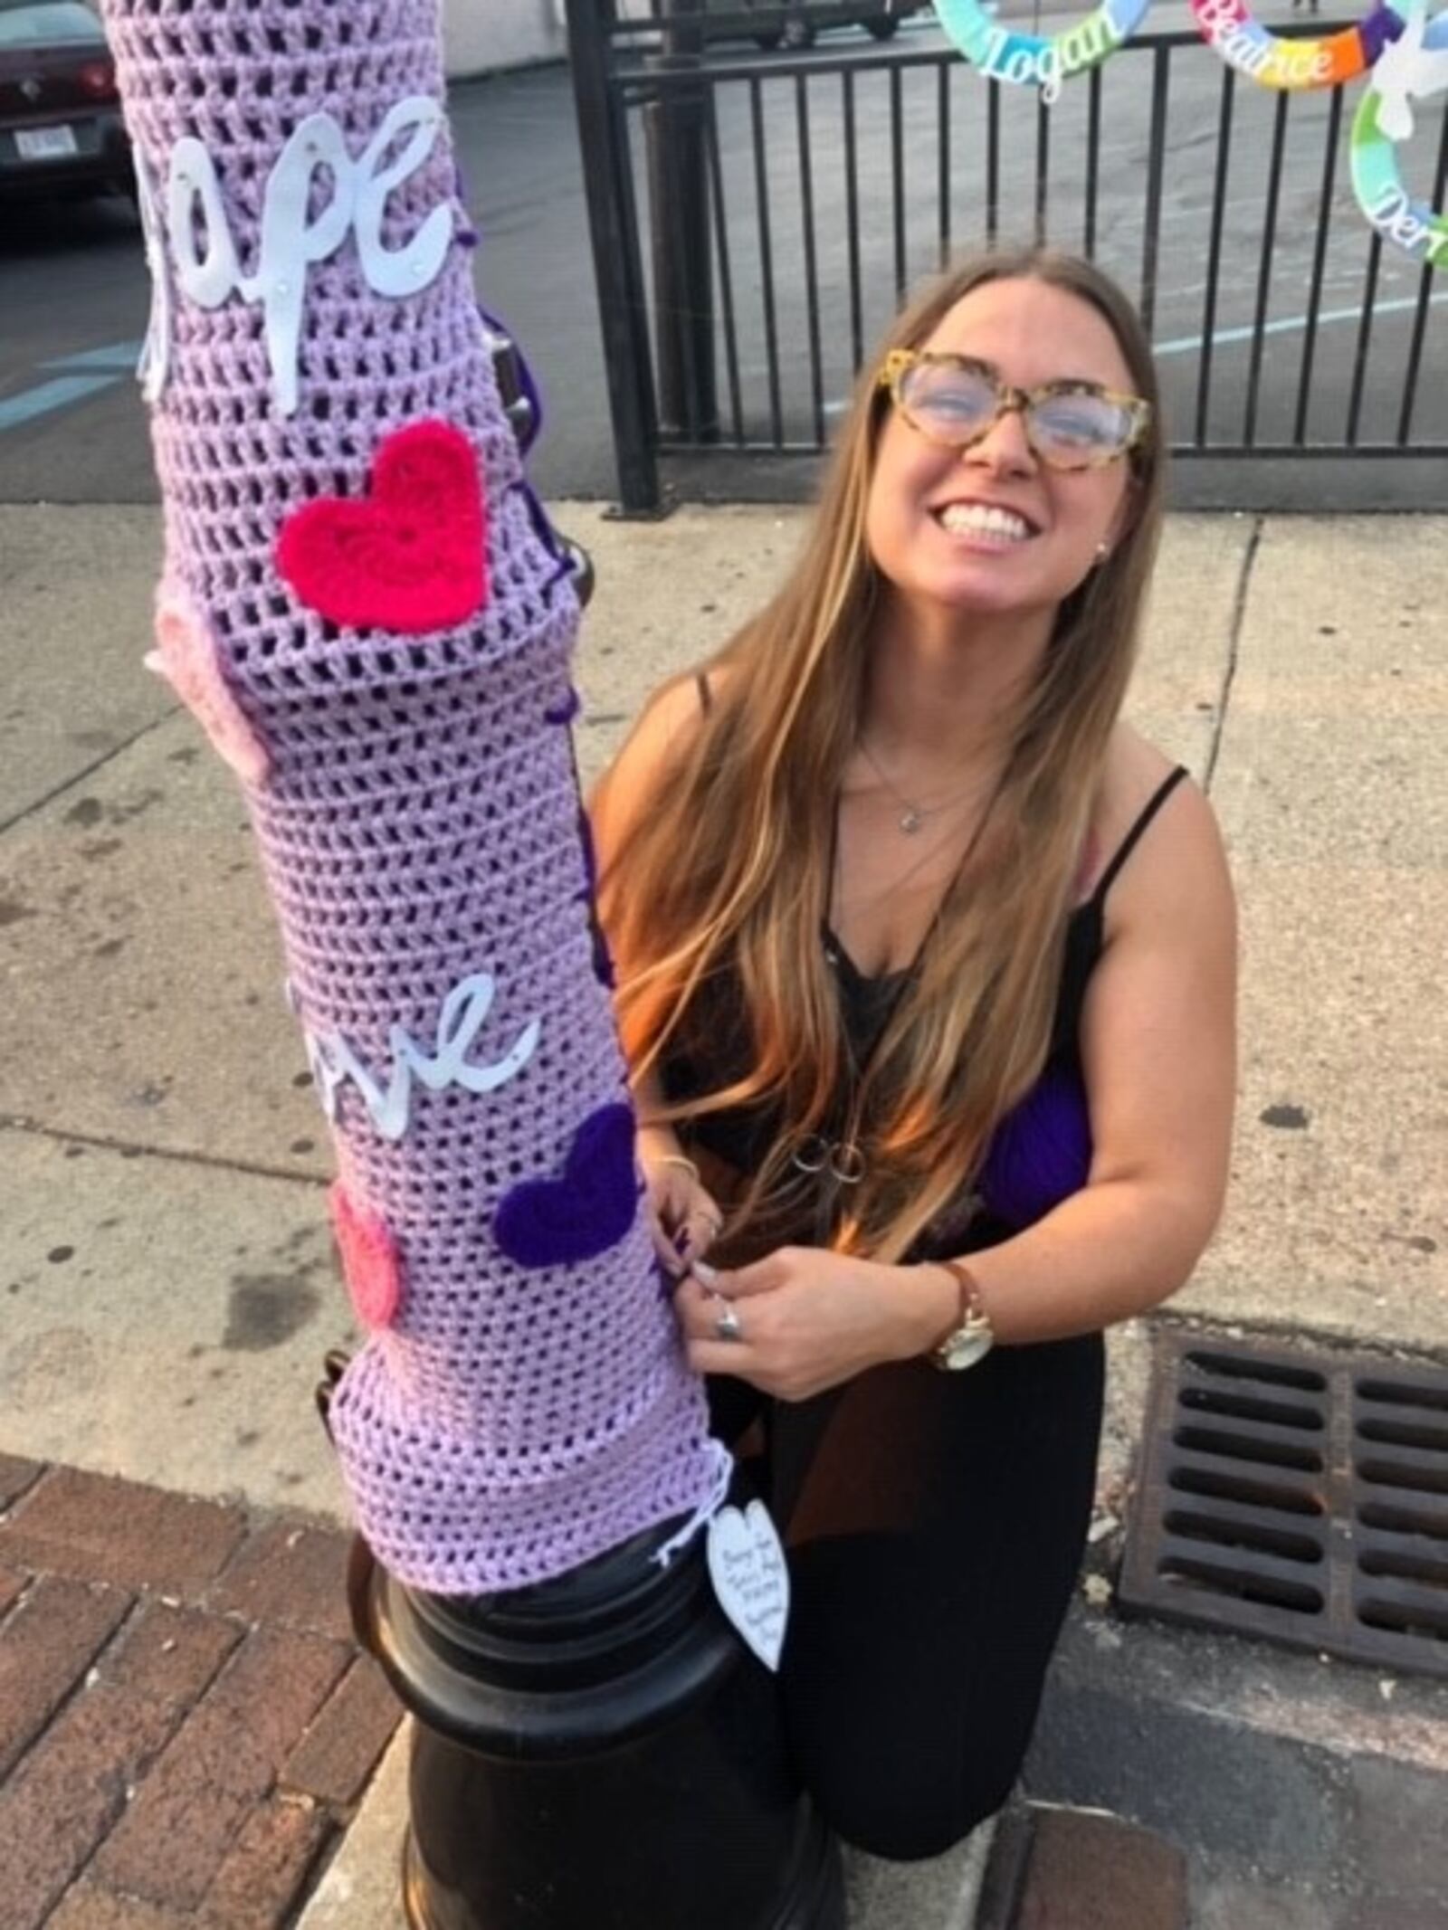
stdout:
<svg viewBox="0 0 1448 1930">
<path fill-rule="evenodd" d="M 1035 1110 L 1027 1100 L 998 1135 L 1002 1144 L 1014 1137 L 1014 1183 L 994 1146 L 1002 1177 L 992 1197 L 989 1160 L 987 1210 L 961 1233 L 921 1241 L 911 1258 L 994 1245 L 1085 1183 L 1077 1034 L 1100 955 L 1102 905 L 1182 776 L 1172 772 L 1151 799 L 1072 917 L 1043 1077 L 1050 1100 Z M 890 980 L 863 977 L 828 934 L 826 944 L 846 1031 L 867 1052 L 888 1011 Z M 728 979 L 714 980 L 710 1004 L 728 998 Z M 732 1027 L 689 1027 L 689 1036 L 710 1038 L 728 1060 L 722 1042 L 739 1040 L 738 992 Z M 703 1056 L 695 1046 L 666 1062 L 670 1098 L 734 1077 L 728 1063 Z M 1083 1131 L 1060 1131 L 1072 1106 Z M 1033 1160 L 1031 1141 L 1048 1121 L 1056 1143 Z M 689 1137 L 747 1172 L 772 1129 L 759 1112 L 716 1114 Z M 938 1855 L 1006 1801 L 1081 1565 L 1102 1382 L 1099 1334 L 996 1347 L 960 1374 L 929 1361 L 892 1363 L 799 1403 L 710 1378 L 724 1440 L 761 1424 L 753 1438 L 763 1451 L 747 1469 L 790 1552 L 786 1723 L 805 1785 L 846 1841 L 880 1857 Z"/>
</svg>

